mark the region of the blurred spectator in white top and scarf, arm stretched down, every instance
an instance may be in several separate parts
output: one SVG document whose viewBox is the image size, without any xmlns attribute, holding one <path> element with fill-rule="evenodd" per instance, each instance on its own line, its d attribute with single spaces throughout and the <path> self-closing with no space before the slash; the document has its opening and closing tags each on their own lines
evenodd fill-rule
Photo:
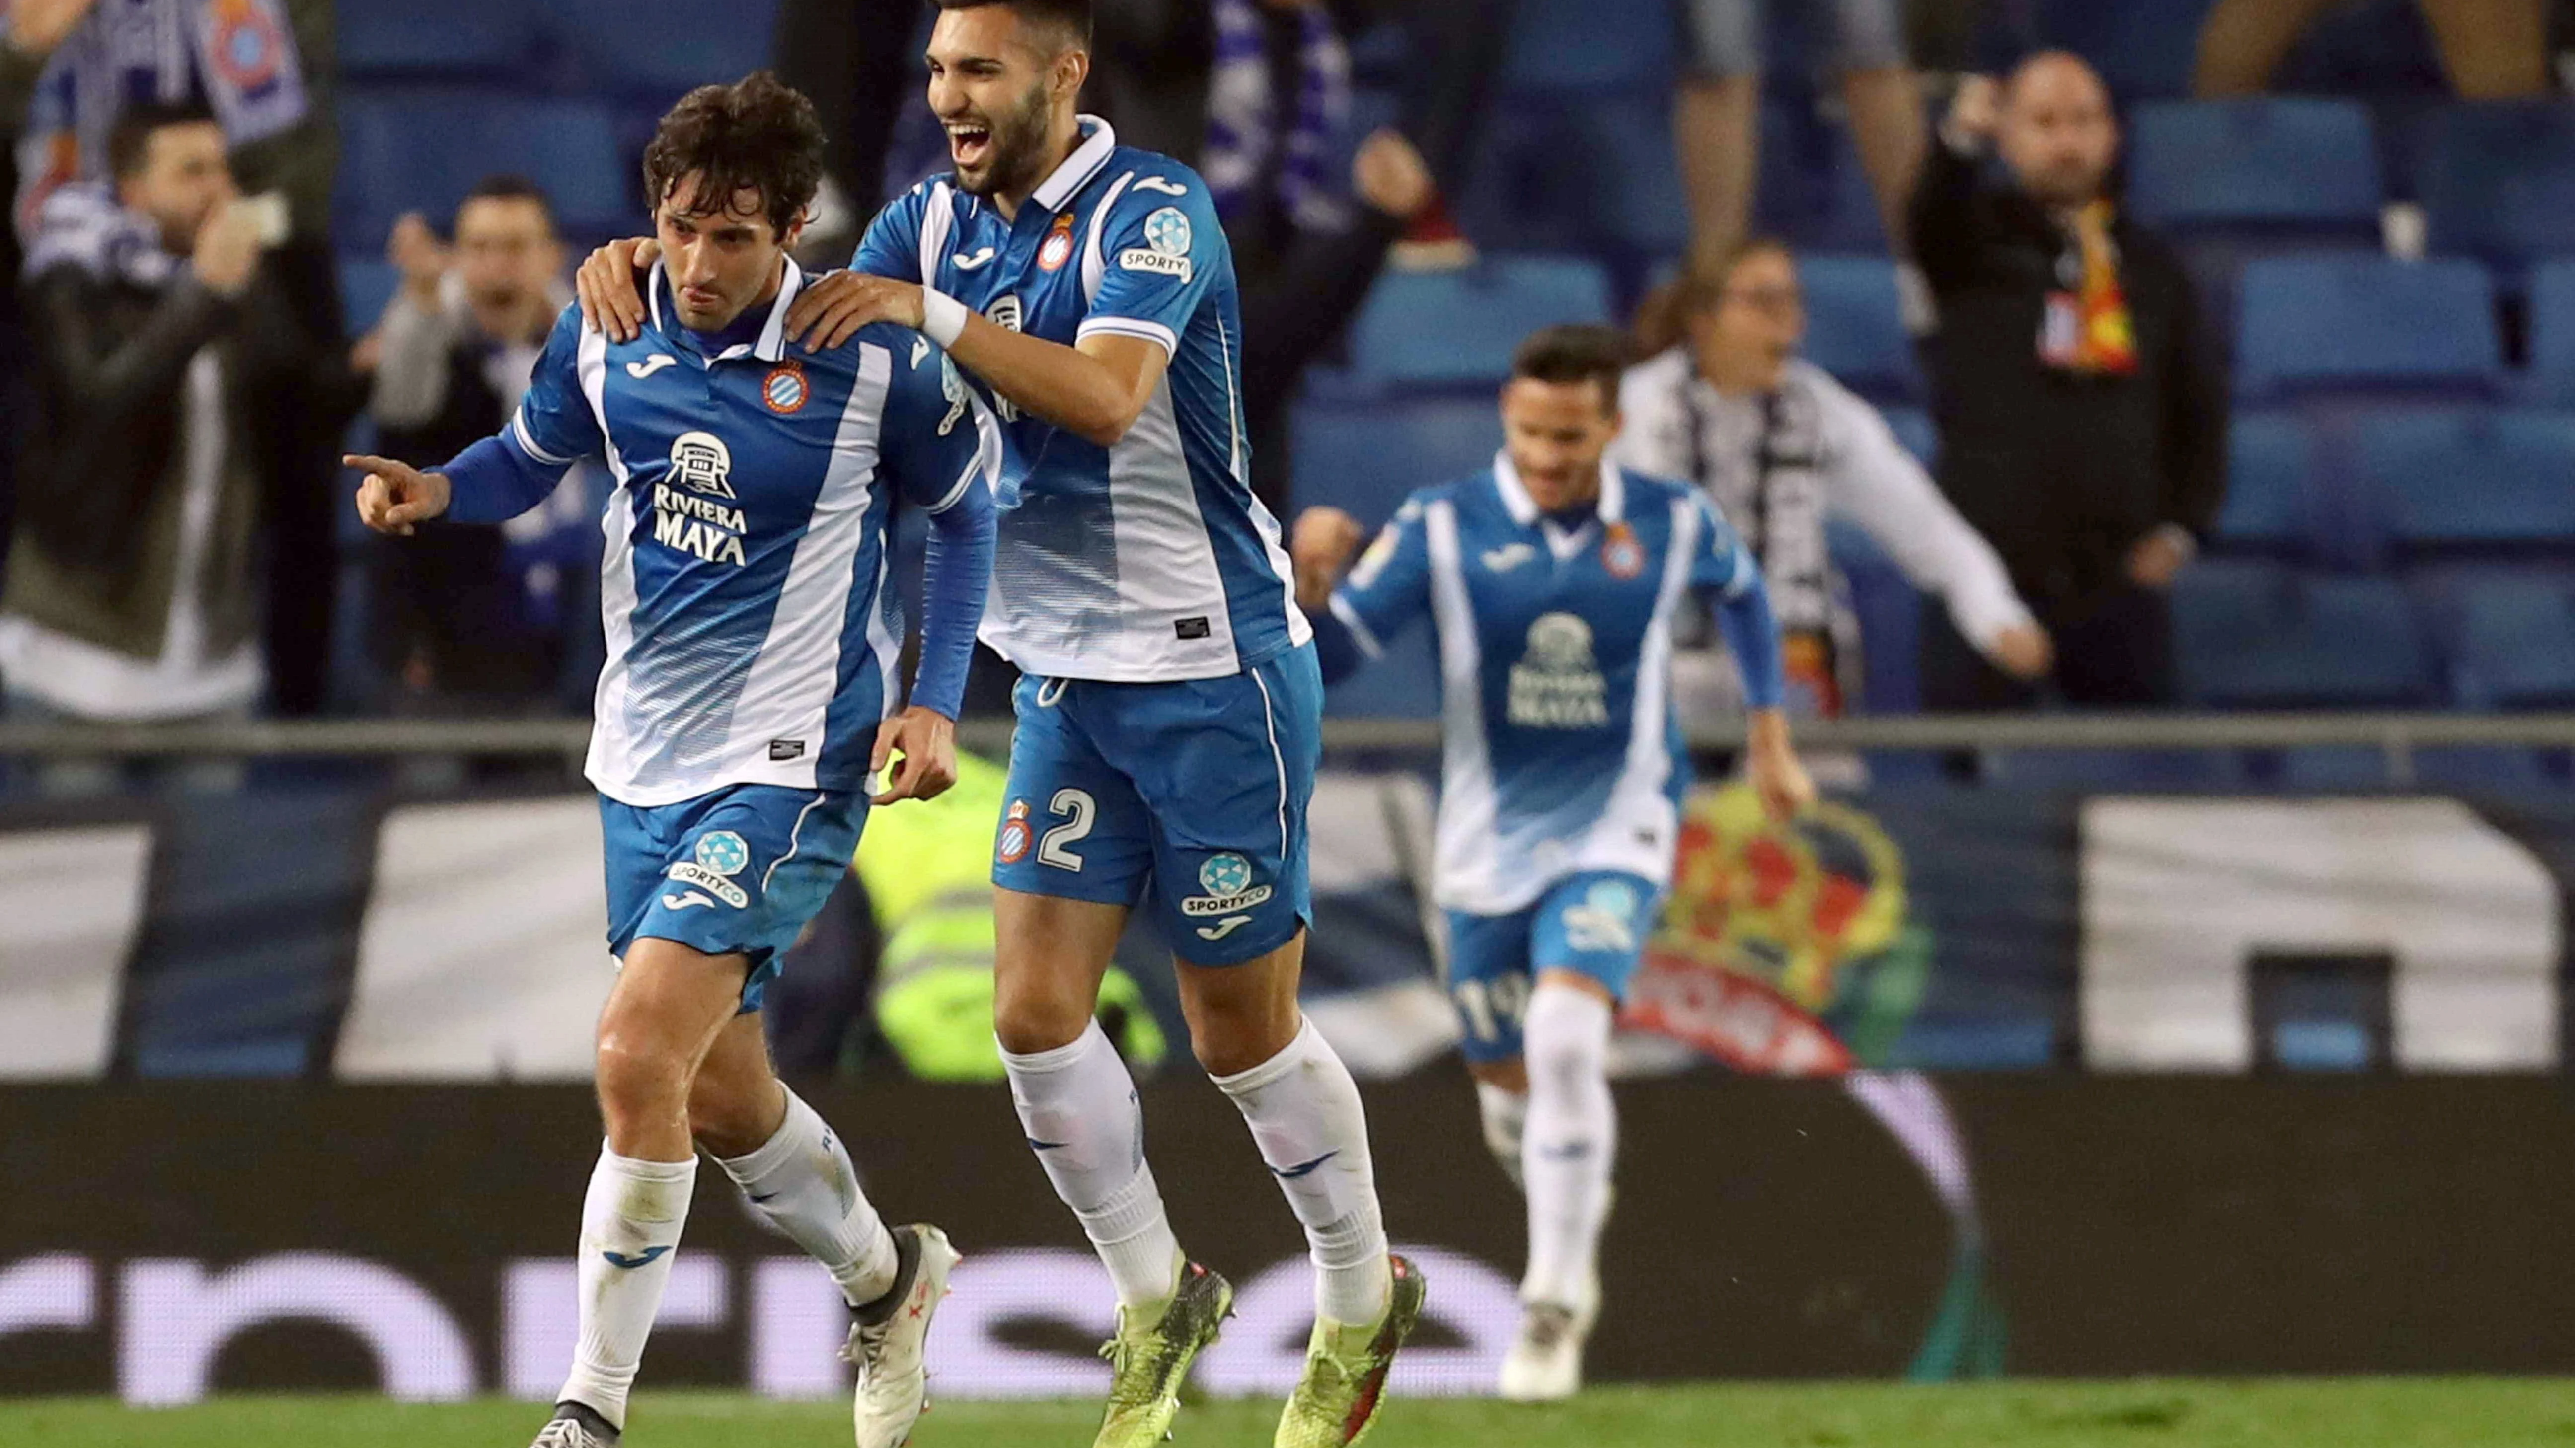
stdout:
<svg viewBox="0 0 2575 1448">
<path fill-rule="evenodd" d="M 1931 487 L 1887 420 L 1797 356 L 1805 301 L 1787 245 L 1754 240 L 1684 294 L 1689 340 L 1627 368 L 1617 461 L 1687 477 L 1715 497 L 1761 559 L 1779 618 L 1790 691 L 1833 716 L 1857 678 L 1859 626 L 1826 513 L 1844 513 L 1926 593 L 1960 634 L 2019 680 L 2047 672 L 2047 634 L 2021 605 L 2003 559 Z M 1741 680 L 1710 629 L 1674 654 L 1684 716 L 1738 714 Z"/>
</svg>

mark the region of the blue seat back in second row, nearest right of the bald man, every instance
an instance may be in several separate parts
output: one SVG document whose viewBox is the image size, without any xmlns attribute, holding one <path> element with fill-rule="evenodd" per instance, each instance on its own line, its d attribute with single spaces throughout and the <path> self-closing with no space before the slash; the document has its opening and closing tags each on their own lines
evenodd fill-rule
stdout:
<svg viewBox="0 0 2575 1448">
<path fill-rule="evenodd" d="M 2235 392 L 2503 386 L 2495 286 L 2472 260 L 2310 252 L 2245 263 Z"/>
</svg>

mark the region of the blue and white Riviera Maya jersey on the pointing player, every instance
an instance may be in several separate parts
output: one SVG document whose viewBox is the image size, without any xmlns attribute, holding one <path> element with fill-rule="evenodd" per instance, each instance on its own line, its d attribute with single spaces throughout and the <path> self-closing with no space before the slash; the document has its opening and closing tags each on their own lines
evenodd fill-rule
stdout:
<svg viewBox="0 0 2575 1448">
<path fill-rule="evenodd" d="M 566 307 L 502 430 L 538 469 L 603 459 L 615 479 L 590 781 L 623 804 L 860 788 L 896 703 L 896 495 L 942 510 L 999 482 L 999 425 L 919 332 L 876 325 L 791 358 L 801 286 L 788 263 L 760 338 L 716 356 L 659 265 L 631 343 Z"/>
</svg>

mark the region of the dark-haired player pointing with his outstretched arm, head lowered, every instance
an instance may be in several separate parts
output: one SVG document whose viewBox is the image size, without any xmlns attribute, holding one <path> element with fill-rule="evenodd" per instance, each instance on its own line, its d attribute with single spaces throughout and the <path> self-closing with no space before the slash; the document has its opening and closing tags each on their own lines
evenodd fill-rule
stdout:
<svg viewBox="0 0 2575 1448">
<path fill-rule="evenodd" d="M 955 714 L 991 575 L 1002 435 L 948 358 L 901 327 L 788 353 L 788 260 L 821 180 L 814 106 L 770 75 L 693 90 L 644 152 L 662 260 L 623 340 L 566 309 L 497 435 L 422 474 L 350 459 L 381 533 L 492 523 L 579 459 L 608 505 L 590 778 L 608 845 L 600 1015 L 608 1144 L 582 1206 L 579 1348 L 538 1448 L 603 1448 L 718 1159 L 752 1211 L 852 1304 L 857 1443 L 922 1412 L 922 1340 L 955 1265 L 935 1226 L 888 1229 L 821 1116 L 770 1069 L 760 1000 L 876 804 L 955 778 Z M 922 662 L 896 703 L 883 595 L 896 497 L 932 515 Z"/>
</svg>

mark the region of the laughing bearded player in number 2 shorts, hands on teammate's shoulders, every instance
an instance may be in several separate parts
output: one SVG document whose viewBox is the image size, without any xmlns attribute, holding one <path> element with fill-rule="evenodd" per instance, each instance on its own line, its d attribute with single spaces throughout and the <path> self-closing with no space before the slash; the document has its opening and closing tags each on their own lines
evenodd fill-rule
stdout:
<svg viewBox="0 0 2575 1448">
<path fill-rule="evenodd" d="M 1249 487 L 1233 252 L 1197 173 L 1076 111 L 1089 0 L 937 5 L 930 108 L 955 170 L 886 206 L 855 273 L 819 281 L 791 327 L 819 345 L 919 327 L 999 394 L 1030 459 L 984 621 L 1025 672 L 994 868 L 997 1031 L 1030 1147 L 1118 1283 L 1100 1445 L 1164 1438 L 1231 1301 L 1182 1255 L 1133 1082 L 1092 1023 L 1128 912 L 1148 904 L 1197 1059 L 1316 1262 L 1277 1443 L 1334 1448 L 1372 1422 L 1421 1278 L 1385 1247 L 1357 1085 L 1298 1010 L 1324 685 Z M 582 268 L 618 335 L 639 317 L 633 255 Z"/>
</svg>

